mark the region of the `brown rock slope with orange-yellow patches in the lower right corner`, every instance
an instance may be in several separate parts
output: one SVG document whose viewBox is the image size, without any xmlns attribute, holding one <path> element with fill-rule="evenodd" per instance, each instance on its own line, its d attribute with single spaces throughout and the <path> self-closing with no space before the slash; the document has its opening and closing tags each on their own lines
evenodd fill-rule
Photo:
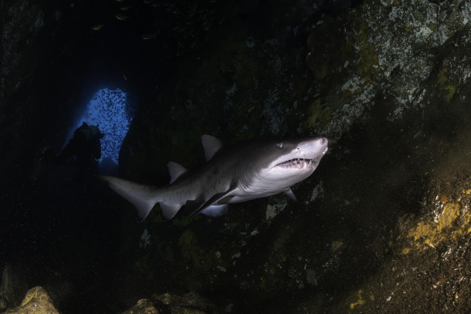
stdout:
<svg viewBox="0 0 471 314">
<path fill-rule="evenodd" d="M 454 178 L 431 188 L 423 203 L 425 216 L 398 219 L 392 257 L 346 300 L 353 313 L 469 311 L 470 194 L 470 177 Z M 336 313 L 346 311 L 346 303 Z"/>
</svg>

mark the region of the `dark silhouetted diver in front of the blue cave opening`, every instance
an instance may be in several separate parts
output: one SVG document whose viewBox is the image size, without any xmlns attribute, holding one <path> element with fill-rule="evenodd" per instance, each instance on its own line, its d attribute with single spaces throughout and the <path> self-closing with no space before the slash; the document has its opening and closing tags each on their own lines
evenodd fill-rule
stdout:
<svg viewBox="0 0 471 314">
<path fill-rule="evenodd" d="M 105 134 L 97 126 L 89 126 L 85 122 L 75 130 L 74 137 L 57 156 L 57 163 L 62 164 L 70 158 L 76 157 L 78 165 L 85 165 L 93 159 L 102 157 L 101 139 Z"/>
</svg>

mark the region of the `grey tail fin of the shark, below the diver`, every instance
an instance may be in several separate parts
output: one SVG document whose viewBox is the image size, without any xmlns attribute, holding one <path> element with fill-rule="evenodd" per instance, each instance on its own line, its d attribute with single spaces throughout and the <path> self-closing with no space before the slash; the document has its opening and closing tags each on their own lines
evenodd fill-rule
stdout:
<svg viewBox="0 0 471 314">
<path fill-rule="evenodd" d="M 139 217 L 139 221 L 144 220 L 149 212 L 151 212 L 154 205 L 161 201 L 160 193 L 154 186 L 134 183 L 111 176 L 100 177 L 108 182 L 109 187 L 111 187 L 113 191 L 134 205 L 134 207 L 137 209 L 137 216 Z"/>
</svg>

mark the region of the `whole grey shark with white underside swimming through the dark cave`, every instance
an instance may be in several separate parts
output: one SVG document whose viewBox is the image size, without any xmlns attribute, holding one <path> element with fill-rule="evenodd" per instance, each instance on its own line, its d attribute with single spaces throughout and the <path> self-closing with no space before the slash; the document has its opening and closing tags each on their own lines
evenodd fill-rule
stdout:
<svg viewBox="0 0 471 314">
<path fill-rule="evenodd" d="M 297 201 L 291 186 L 311 176 L 326 154 L 324 136 L 258 138 L 224 146 L 211 135 L 201 137 L 206 162 L 187 170 L 168 162 L 170 183 L 152 186 L 101 176 L 109 187 L 137 209 L 143 221 L 158 203 L 164 220 L 179 211 L 222 216 L 228 205 L 285 193 Z"/>
</svg>

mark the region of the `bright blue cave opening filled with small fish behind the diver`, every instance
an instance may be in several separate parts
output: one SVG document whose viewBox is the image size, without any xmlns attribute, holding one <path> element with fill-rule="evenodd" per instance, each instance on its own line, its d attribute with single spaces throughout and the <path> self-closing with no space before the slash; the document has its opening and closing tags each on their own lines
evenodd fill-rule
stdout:
<svg viewBox="0 0 471 314">
<path fill-rule="evenodd" d="M 67 141 L 74 136 L 74 131 L 85 122 L 97 126 L 105 134 L 102 138 L 102 157 L 100 164 L 118 165 L 118 155 L 124 137 L 134 117 L 135 106 L 127 100 L 126 93 L 119 88 L 100 89 L 86 105 L 83 114 L 76 120 Z"/>
</svg>

